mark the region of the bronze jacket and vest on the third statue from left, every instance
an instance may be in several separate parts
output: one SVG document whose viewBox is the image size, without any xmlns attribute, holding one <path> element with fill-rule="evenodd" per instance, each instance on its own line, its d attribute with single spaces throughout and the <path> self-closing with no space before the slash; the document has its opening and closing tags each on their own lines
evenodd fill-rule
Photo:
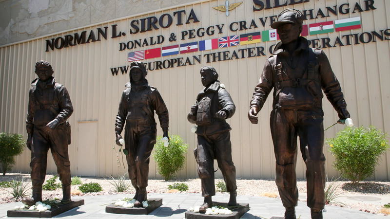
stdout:
<svg viewBox="0 0 390 219">
<path fill-rule="evenodd" d="M 209 87 L 204 88 L 196 97 L 197 113 L 188 114 L 190 123 L 197 125 L 196 134 L 212 135 L 232 128 L 226 122 L 235 112 L 235 105 L 229 92 L 219 81 L 215 81 Z M 226 112 L 225 119 L 215 118 L 219 110 Z"/>
</svg>

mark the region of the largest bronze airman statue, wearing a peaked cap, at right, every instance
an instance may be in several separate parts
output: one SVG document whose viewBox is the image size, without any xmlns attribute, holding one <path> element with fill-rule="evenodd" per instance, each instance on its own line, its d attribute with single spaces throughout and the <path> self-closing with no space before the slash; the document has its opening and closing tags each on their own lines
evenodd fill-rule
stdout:
<svg viewBox="0 0 390 219">
<path fill-rule="evenodd" d="M 276 185 L 285 218 L 295 219 L 298 201 L 296 187 L 297 135 L 306 163 L 307 205 L 312 219 L 322 219 L 325 206 L 325 156 L 322 91 L 326 94 L 341 121 L 350 117 L 340 84 L 321 49 L 309 48 L 308 40 L 300 37 L 302 13 L 295 9 L 283 11 L 271 27 L 277 30 L 278 42 L 254 89 L 249 120 L 257 124 L 257 113 L 273 89 L 271 134 L 276 157 Z M 340 121 L 339 120 L 339 121 Z"/>
</svg>

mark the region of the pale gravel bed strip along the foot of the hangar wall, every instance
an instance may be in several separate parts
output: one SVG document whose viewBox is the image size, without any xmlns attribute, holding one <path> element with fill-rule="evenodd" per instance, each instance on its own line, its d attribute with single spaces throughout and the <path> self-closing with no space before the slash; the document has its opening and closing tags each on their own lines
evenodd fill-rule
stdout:
<svg viewBox="0 0 390 219">
<path fill-rule="evenodd" d="M 46 180 L 52 178 L 53 175 L 46 175 Z M 2 181 L 12 181 L 13 179 L 20 180 L 23 178 L 25 181 L 28 181 L 29 187 L 31 187 L 30 175 L 29 174 L 15 174 L 10 173 L 6 176 L 0 176 L 0 182 Z M 215 183 L 218 183 L 222 180 L 215 180 Z M 135 193 L 133 187 L 130 187 L 127 191 L 118 193 L 115 190 L 115 187 L 111 184 L 113 181 L 106 178 L 81 178 L 82 183 L 99 183 L 103 189 L 103 191 L 98 193 L 81 193 L 78 191 L 79 185 L 72 185 L 72 195 L 76 196 L 97 196 L 97 195 L 109 195 L 109 194 L 128 194 L 127 197 L 132 198 L 132 195 Z M 127 181 L 130 183 L 130 181 Z M 59 181 L 58 181 L 59 183 Z M 188 185 L 188 190 L 185 192 L 180 192 L 177 190 L 168 189 L 168 185 L 173 185 L 174 183 L 185 183 Z M 148 183 L 148 193 L 199 193 L 201 192 L 201 183 L 199 179 L 182 179 L 175 181 L 164 181 L 164 180 L 149 180 Z M 330 183 L 327 183 L 329 186 Z M 336 194 L 348 195 L 348 194 L 360 194 L 360 195 L 389 195 L 390 194 L 390 182 L 361 182 L 358 186 L 354 186 L 351 182 L 348 181 L 337 181 L 333 185 L 338 185 L 335 190 Z M 306 181 L 298 181 L 297 182 L 298 190 L 300 193 L 306 193 Z M 2 191 L 0 192 L 0 203 L 7 202 L 15 202 L 19 200 L 15 200 L 9 194 L 9 188 L 0 188 Z M 265 180 L 255 180 L 255 179 L 237 179 L 237 193 L 238 195 L 249 195 L 249 196 L 267 196 L 272 198 L 278 198 L 278 191 L 273 179 L 265 179 Z M 31 190 L 28 191 L 28 196 L 31 195 Z M 59 198 L 62 197 L 62 190 L 57 189 L 55 191 L 43 191 L 42 198 L 53 199 L 55 196 Z M 300 200 L 306 201 L 306 200 Z M 353 208 L 361 211 L 368 211 L 374 214 L 384 214 L 386 211 L 383 206 L 380 204 L 344 204 L 340 205 L 337 203 L 337 199 L 335 202 L 331 202 L 331 205 L 342 206 Z"/>
</svg>

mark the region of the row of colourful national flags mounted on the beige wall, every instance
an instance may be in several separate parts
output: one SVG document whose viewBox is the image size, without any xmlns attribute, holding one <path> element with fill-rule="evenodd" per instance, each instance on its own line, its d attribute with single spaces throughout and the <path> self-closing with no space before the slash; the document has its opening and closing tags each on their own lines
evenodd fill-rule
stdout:
<svg viewBox="0 0 390 219">
<path fill-rule="evenodd" d="M 309 36 L 309 35 L 317 35 L 317 34 L 326 34 L 332 33 L 334 31 L 346 31 L 361 28 L 361 20 L 360 17 L 355 18 L 346 18 L 335 20 L 334 25 L 333 21 L 325 21 L 320 23 L 313 23 L 309 25 L 302 26 L 301 36 Z M 267 42 L 278 40 L 279 35 L 276 30 L 268 30 L 250 33 L 250 34 L 241 34 L 234 35 L 229 37 L 219 37 L 216 39 L 207 39 L 198 42 L 190 42 L 184 43 L 180 45 L 166 46 L 162 48 L 150 49 L 145 51 L 137 51 L 130 52 L 128 54 L 127 60 L 137 61 L 148 58 L 157 58 L 161 56 L 167 55 L 177 55 L 184 53 L 192 53 L 197 51 L 205 51 L 205 50 L 214 50 L 218 48 L 230 47 L 230 46 L 238 46 L 238 45 L 246 45 L 258 42 Z"/>
</svg>

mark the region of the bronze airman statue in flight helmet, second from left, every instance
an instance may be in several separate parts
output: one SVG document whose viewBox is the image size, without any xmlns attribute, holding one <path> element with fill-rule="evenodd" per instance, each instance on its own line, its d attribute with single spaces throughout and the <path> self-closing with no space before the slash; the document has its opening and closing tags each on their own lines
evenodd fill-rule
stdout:
<svg viewBox="0 0 390 219">
<path fill-rule="evenodd" d="M 163 136 L 168 138 L 168 109 L 157 89 L 146 80 L 147 73 L 142 62 L 131 63 L 130 81 L 122 93 L 115 123 L 118 146 L 122 146 L 120 134 L 125 128 L 124 144 L 129 152 L 126 155 L 127 167 L 131 183 L 136 189 L 135 207 L 142 207 L 142 201 L 147 200 L 149 159 L 156 144 L 155 111 Z"/>
</svg>

